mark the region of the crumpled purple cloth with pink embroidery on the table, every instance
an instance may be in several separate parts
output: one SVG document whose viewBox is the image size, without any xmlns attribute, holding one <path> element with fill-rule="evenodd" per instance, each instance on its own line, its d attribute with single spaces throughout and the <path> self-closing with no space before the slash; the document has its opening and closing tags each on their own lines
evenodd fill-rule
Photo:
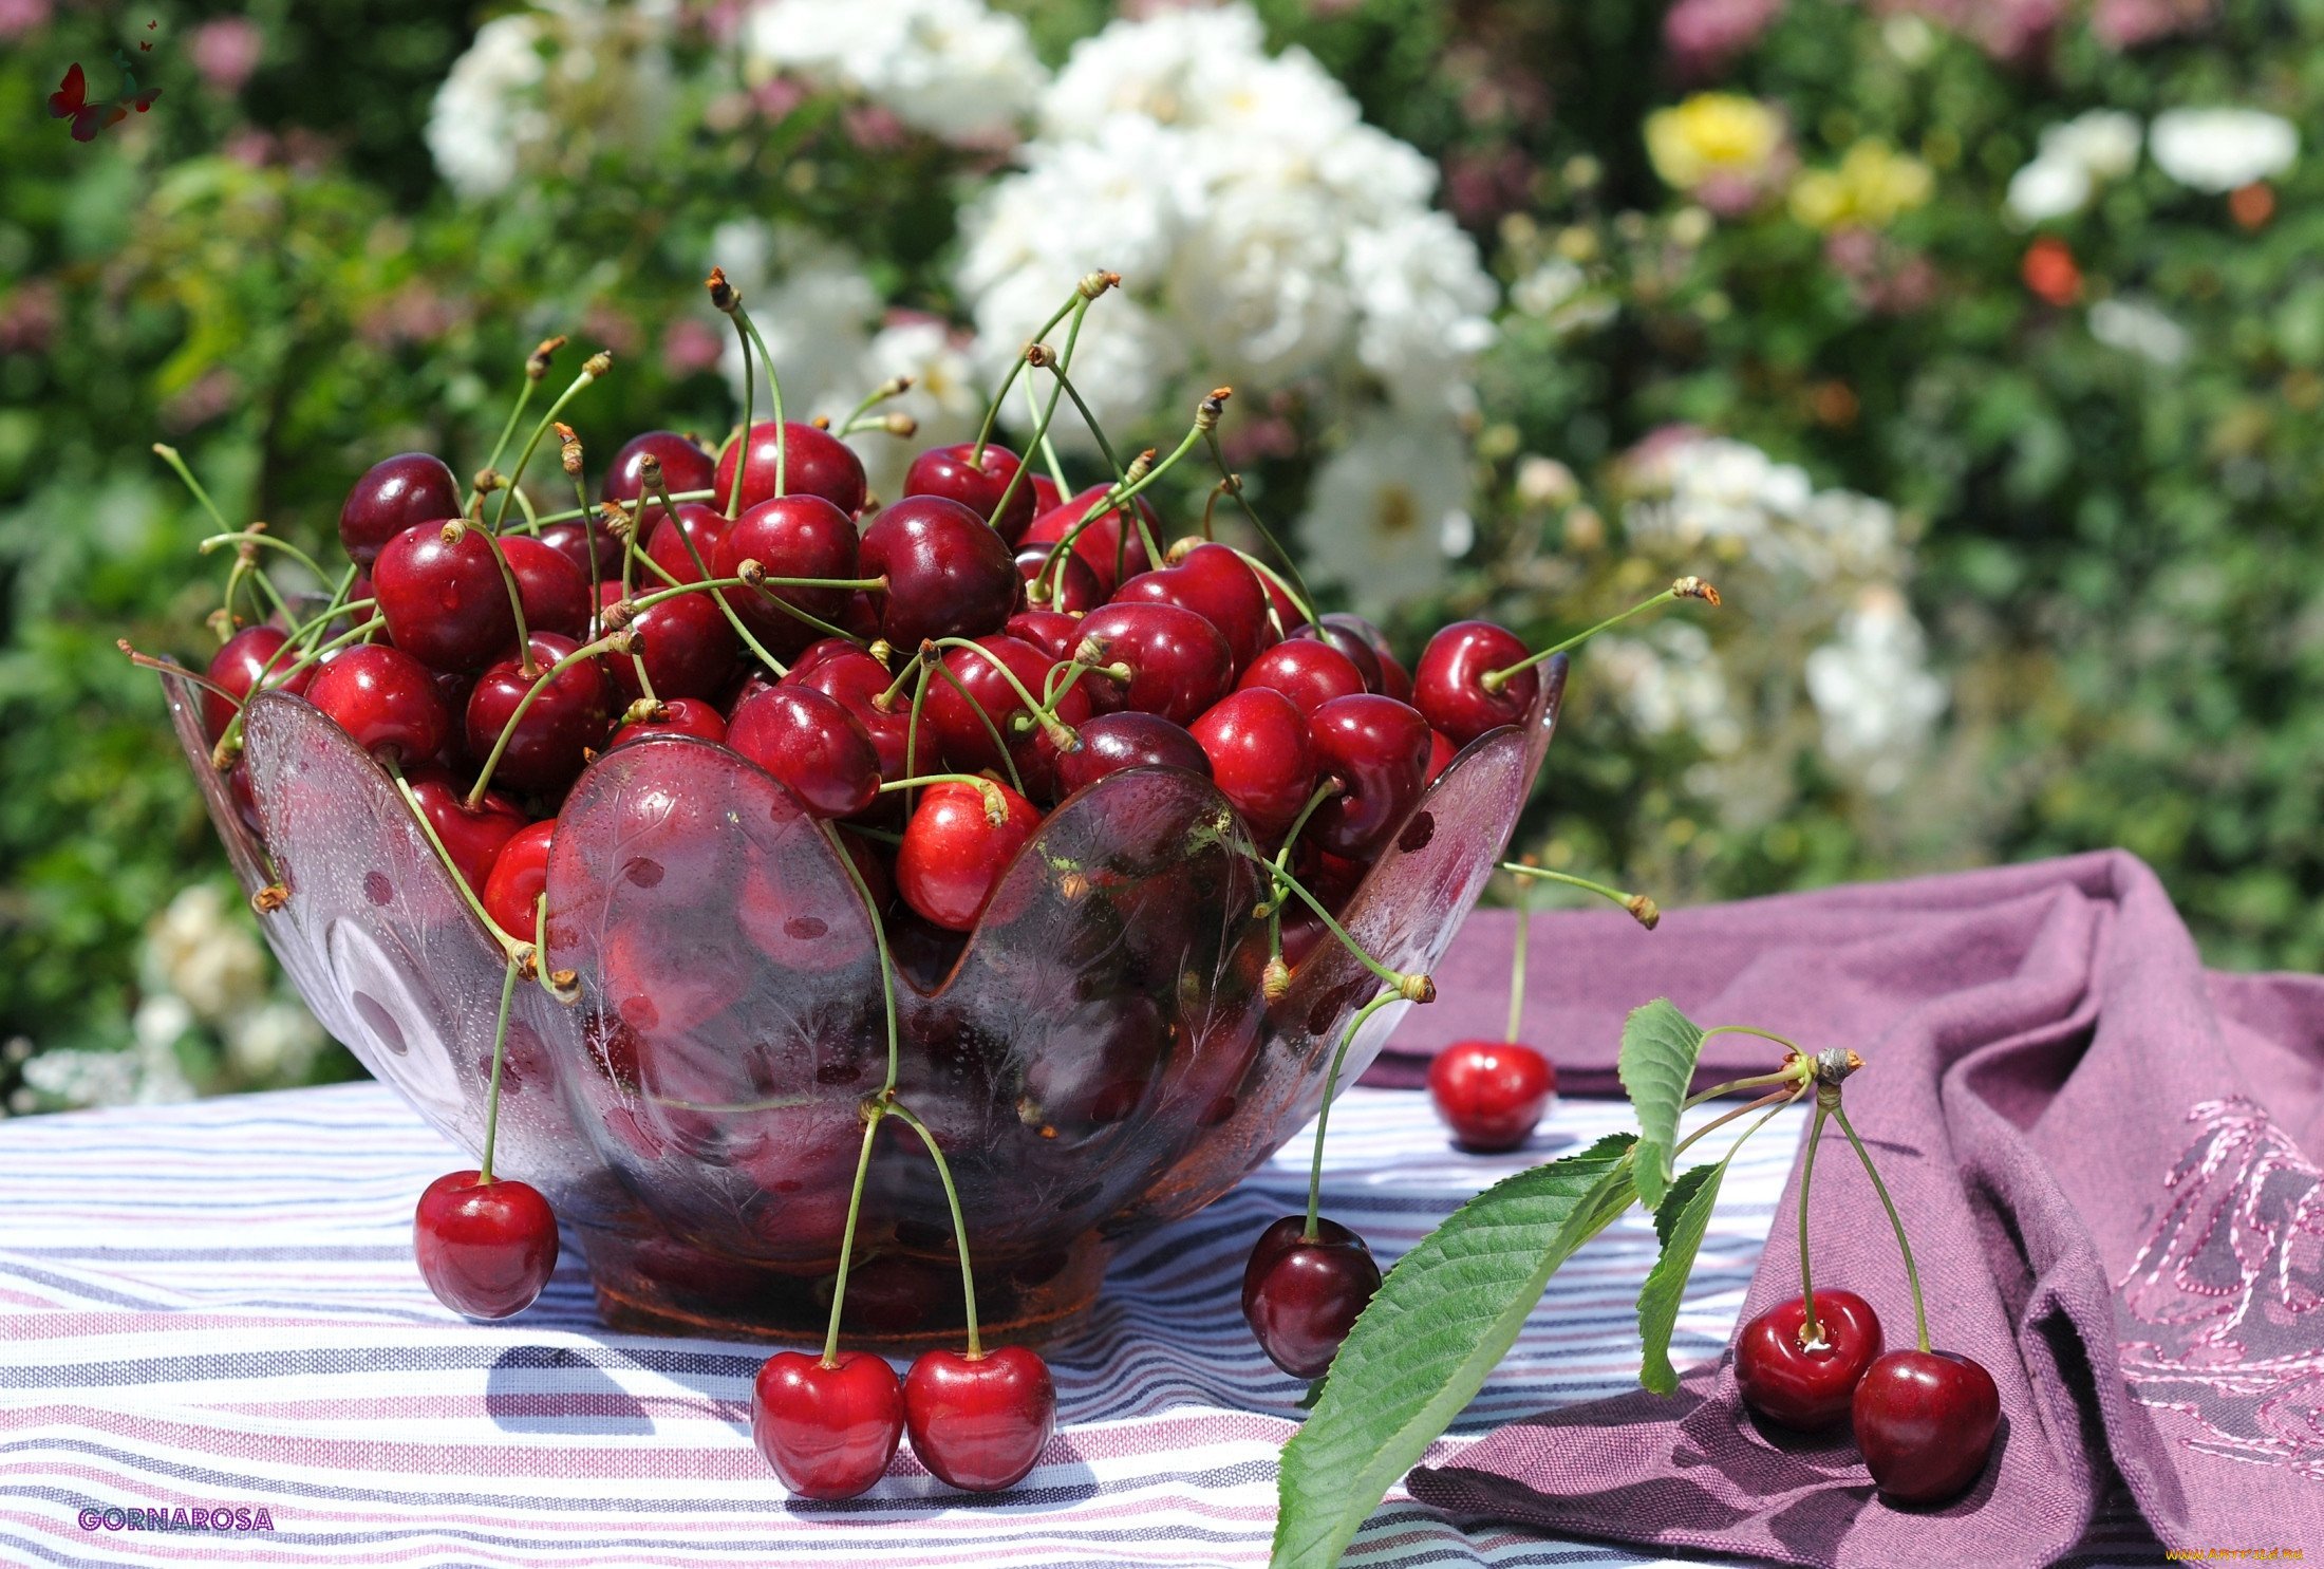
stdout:
<svg viewBox="0 0 2324 1569">
<path fill-rule="evenodd" d="M 1855 1046 L 1850 1120 L 1903 1209 L 1938 1351 L 2001 1385 L 1982 1481 L 1878 1502 L 1845 1432 L 1762 1430 L 1731 1357 L 1501 1427 L 1411 1492 L 1466 1518 L 1822 1569 L 2047 1564 L 2119 1471 L 2171 1548 L 2324 1550 L 2324 981 L 2205 974 L 2124 853 L 1669 916 L 1536 916 L 1527 1039 L 1613 1079 L 1622 1013 Z M 1439 969 L 1397 1046 L 1497 1034 L 1506 918 Z M 1771 1051 L 1715 1037 L 1717 1076 Z M 1815 1278 L 1910 1346 L 1896 1241 L 1836 1130 Z M 1743 1313 L 1799 1295 L 1796 1190 Z"/>
</svg>

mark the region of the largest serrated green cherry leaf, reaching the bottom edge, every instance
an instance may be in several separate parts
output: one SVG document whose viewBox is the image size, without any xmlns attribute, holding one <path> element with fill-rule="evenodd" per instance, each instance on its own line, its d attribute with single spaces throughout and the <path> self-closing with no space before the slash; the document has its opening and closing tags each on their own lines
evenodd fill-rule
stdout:
<svg viewBox="0 0 2324 1569">
<path fill-rule="evenodd" d="M 1631 1134 L 1494 1183 L 1406 1253 L 1283 1448 L 1274 1569 L 1329 1569 L 1518 1341 L 1559 1264 L 1629 1209 Z"/>
</svg>

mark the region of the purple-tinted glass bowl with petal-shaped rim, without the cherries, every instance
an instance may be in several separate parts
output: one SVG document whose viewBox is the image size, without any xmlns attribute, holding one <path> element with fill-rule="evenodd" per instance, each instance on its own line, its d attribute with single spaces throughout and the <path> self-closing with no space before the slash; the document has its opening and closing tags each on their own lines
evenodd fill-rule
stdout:
<svg viewBox="0 0 2324 1569">
<path fill-rule="evenodd" d="M 1452 941 L 1541 767 L 1564 693 L 1469 744 L 1341 909 L 1385 965 Z M 260 925 L 323 1025 L 453 1144 L 483 1144 L 502 953 L 386 772 L 307 700 L 244 721 L 246 793 L 209 762 L 200 693 L 170 676 L 186 760 Z M 1111 1248 L 1188 1216 L 1315 1113 L 1341 1030 L 1380 990 L 1325 939 L 1260 993 L 1260 874 L 1227 800 L 1129 769 L 1057 804 L 953 958 L 902 955 L 899 1099 L 960 1183 L 978 1316 L 1041 1339 Z M 548 965 L 516 988 L 495 1169 L 535 1183 L 609 1325 L 816 1341 L 885 1072 L 869 916 L 830 841 L 744 758 L 651 737 L 597 758 L 548 862 Z M 941 969 L 941 974 L 939 974 Z M 1411 1004 L 1378 1011 L 1343 1083 Z M 878 1139 L 848 1276 L 851 1344 L 951 1341 L 960 1267 L 927 1151 Z"/>
</svg>

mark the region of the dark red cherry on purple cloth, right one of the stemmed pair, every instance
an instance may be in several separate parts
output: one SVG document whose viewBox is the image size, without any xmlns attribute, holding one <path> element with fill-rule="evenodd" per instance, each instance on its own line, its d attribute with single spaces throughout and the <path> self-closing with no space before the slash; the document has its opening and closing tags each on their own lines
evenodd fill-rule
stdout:
<svg viewBox="0 0 2324 1569">
<path fill-rule="evenodd" d="M 1822 1313 L 1824 1292 L 1815 1292 Z M 1857 1448 L 1892 1504 L 1945 1504 L 1985 1474 L 2001 1390 L 1952 1351 L 1892 1351 L 1864 1369 L 1850 1406 Z"/>
</svg>

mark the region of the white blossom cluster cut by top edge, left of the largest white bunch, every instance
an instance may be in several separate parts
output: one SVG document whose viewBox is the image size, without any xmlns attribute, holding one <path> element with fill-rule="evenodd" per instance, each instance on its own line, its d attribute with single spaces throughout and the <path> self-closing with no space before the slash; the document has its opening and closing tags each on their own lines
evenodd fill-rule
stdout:
<svg viewBox="0 0 2324 1569">
<path fill-rule="evenodd" d="M 1013 137 L 1043 72 L 1025 23 L 978 0 L 772 0 L 744 23 L 758 72 L 795 72 L 946 142 Z"/>
</svg>

